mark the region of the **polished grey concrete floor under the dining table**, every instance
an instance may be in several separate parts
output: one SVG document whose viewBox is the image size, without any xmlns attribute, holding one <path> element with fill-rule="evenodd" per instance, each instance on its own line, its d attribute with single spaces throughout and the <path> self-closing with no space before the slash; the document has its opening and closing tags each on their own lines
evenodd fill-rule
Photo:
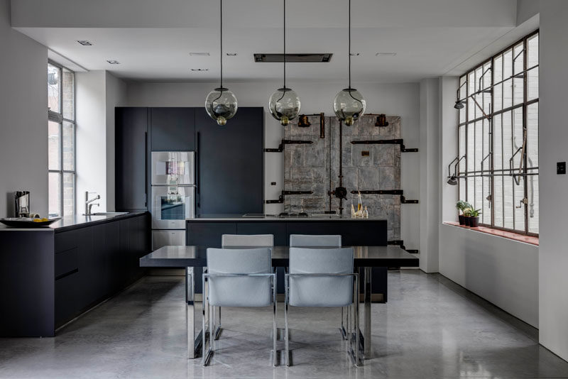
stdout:
<svg viewBox="0 0 568 379">
<path fill-rule="evenodd" d="M 418 270 L 389 273 L 364 367 L 346 356 L 339 309 L 291 308 L 295 366 L 273 368 L 271 309 L 232 308 L 203 368 L 186 358 L 182 280 L 143 278 L 53 339 L 0 339 L 0 378 L 568 378 L 568 363 L 537 344 L 535 329 Z"/>
</svg>

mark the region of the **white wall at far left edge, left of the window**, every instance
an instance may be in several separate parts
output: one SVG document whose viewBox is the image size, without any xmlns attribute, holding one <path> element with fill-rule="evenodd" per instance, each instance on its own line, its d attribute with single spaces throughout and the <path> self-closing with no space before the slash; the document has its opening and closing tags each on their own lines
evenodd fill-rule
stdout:
<svg viewBox="0 0 568 379">
<path fill-rule="evenodd" d="M 0 217 L 13 192 L 31 191 L 31 211 L 48 214 L 48 49 L 10 28 L 0 0 Z"/>
</svg>

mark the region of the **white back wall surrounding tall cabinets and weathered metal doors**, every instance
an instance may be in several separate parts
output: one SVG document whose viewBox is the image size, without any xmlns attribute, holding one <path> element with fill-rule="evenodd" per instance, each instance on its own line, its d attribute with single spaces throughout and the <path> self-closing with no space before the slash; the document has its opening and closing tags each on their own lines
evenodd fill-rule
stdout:
<svg viewBox="0 0 568 379">
<path fill-rule="evenodd" d="M 219 83 L 153 83 L 129 82 L 126 106 L 204 106 L 204 99 Z M 278 147 L 283 137 L 283 128 L 272 118 L 266 104 L 272 92 L 281 87 L 281 82 L 228 83 L 239 99 L 239 106 L 264 106 L 266 147 Z M 335 94 L 345 87 L 338 83 L 288 83 L 302 101 L 302 113 L 325 112 L 332 116 L 332 102 Z M 384 113 L 402 117 L 402 137 L 408 148 L 420 146 L 420 94 L 417 83 L 373 84 L 354 83 L 364 94 L 368 113 Z M 230 127 L 230 121 L 229 121 Z M 408 199 L 420 199 L 420 154 L 403 153 L 401 161 L 401 183 Z M 283 188 L 283 154 L 266 153 L 266 199 L 278 199 Z M 271 186 L 276 182 L 276 186 Z M 280 212 L 280 204 L 266 205 L 266 212 Z M 419 246 L 420 206 L 403 205 L 401 211 L 401 236 L 407 248 Z"/>
</svg>

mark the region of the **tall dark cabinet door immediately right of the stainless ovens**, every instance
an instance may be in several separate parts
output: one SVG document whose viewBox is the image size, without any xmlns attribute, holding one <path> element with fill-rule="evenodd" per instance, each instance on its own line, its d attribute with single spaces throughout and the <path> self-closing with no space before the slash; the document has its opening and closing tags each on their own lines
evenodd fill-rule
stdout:
<svg viewBox="0 0 568 379">
<path fill-rule="evenodd" d="M 239 108 L 219 126 L 195 110 L 197 214 L 262 213 L 264 111 Z"/>
</svg>

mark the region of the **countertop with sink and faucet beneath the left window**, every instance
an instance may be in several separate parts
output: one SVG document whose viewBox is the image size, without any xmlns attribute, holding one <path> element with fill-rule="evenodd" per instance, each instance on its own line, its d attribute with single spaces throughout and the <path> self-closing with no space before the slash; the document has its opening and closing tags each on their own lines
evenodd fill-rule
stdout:
<svg viewBox="0 0 568 379">
<path fill-rule="evenodd" d="M 62 217 L 62 219 L 55 221 L 50 226 L 41 228 L 13 228 L 4 224 L 0 224 L 0 231 L 55 231 L 55 233 L 60 233 L 62 231 L 80 229 L 85 226 L 105 224 L 107 222 L 116 221 L 118 219 L 129 219 L 131 217 L 140 216 L 144 213 L 146 212 L 141 211 L 128 212 L 124 214 L 102 214 L 96 216 L 83 216 L 82 214 L 73 214 L 72 216 Z"/>
</svg>

